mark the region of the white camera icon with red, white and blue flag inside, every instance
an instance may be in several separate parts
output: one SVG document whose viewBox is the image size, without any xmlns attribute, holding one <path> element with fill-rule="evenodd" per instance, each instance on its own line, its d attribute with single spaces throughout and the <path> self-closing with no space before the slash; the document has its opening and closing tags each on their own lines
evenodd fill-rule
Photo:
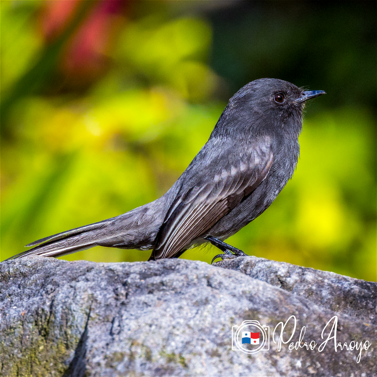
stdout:
<svg viewBox="0 0 377 377">
<path fill-rule="evenodd" d="M 270 349 L 270 327 L 258 321 L 244 321 L 241 326 L 232 326 L 232 349 L 253 354 Z"/>
</svg>

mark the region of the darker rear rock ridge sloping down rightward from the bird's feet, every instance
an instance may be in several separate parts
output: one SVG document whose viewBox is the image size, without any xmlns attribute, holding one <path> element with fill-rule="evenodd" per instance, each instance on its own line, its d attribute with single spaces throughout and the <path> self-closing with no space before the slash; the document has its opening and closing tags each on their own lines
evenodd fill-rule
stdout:
<svg viewBox="0 0 377 377">
<path fill-rule="evenodd" d="M 377 324 L 375 282 L 254 256 L 220 261 L 215 265 L 241 271 L 321 307 Z"/>
</svg>

